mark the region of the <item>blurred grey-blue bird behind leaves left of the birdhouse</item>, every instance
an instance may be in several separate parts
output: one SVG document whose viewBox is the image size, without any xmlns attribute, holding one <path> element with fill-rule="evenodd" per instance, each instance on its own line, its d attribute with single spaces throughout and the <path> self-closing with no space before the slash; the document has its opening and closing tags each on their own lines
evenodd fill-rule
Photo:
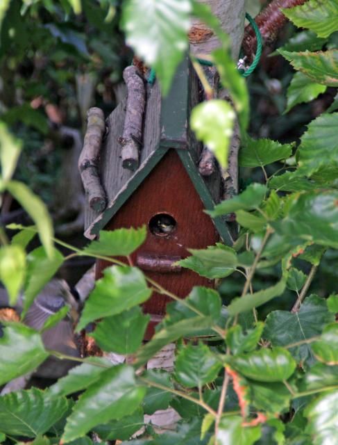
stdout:
<svg viewBox="0 0 338 445">
<path fill-rule="evenodd" d="M 19 321 L 22 313 L 22 300 L 20 296 L 15 307 L 10 307 L 8 294 L 5 289 L 0 289 L 0 337 L 3 336 L 1 321 Z M 58 324 L 42 332 L 44 347 L 48 350 L 56 350 L 58 353 L 71 357 L 80 357 L 74 337 L 74 324 L 78 318 L 78 296 L 76 291 L 71 291 L 65 280 L 53 279 L 38 294 L 28 309 L 23 323 L 35 330 L 40 330 L 47 318 L 56 314 L 65 305 L 69 306 L 69 312 Z M 41 378 L 60 378 L 67 374 L 76 362 L 67 359 L 57 359 L 50 356 L 42 363 L 35 375 Z"/>
</svg>

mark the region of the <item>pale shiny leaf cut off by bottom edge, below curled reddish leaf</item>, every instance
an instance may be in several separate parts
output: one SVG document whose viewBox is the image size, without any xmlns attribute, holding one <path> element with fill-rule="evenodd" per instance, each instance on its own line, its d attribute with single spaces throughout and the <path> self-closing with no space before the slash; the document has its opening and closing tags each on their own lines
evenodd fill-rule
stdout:
<svg viewBox="0 0 338 445">
<path fill-rule="evenodd" d="M 242 426 L 242 417 L 226 416 L 219 423 L 217 444 L 253 445 L 262 435 L 260 426 Z"/>
</svg>

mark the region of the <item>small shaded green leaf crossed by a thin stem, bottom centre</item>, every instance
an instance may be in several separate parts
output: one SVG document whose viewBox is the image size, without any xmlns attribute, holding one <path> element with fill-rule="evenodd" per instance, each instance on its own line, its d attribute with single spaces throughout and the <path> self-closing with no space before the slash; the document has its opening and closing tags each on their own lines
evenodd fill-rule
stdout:
<svg viewBox="0 0 338 445">
<path fill-rule="evenodd" d="M 162 385 L 162 387 L 174 389 L 174 385 L 170 380 L 171 374 L 162 369 L 149 369 L 146 373 L 142 374 L 142 377 Z M 172 398 L 173 394 L 171 392 L 149 386 L 143 400 L 144 414 L 153 414 L 158 410 L 167 410 Z"/>
</svg>

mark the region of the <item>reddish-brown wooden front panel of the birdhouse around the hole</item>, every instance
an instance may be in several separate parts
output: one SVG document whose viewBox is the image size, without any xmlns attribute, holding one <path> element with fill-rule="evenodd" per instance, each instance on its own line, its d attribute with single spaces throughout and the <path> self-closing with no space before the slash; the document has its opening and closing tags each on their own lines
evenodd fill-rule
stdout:
<svg viewBox="0 0 338 445">
<path fill-rule="evenodd" d="M 170 149 L 126 204 L 119 209 L 105 230 L 146 225 L 146 241 L 132 255 L 134 264 L 137 254 L 185 258 L 189 255 L 187 248 L 202 249 L 219 240 L 211 218 L 203 209 L 201 198 L 178 154 L 174 149 Z M 156 236 L 150 232 L 149 220 L 157 213 L 169 213 L 175 218 L 176 229 L 169 236 Z M 96 277 L 101 277 L 103 268 L 110 265 L 99 260 Z M 193 286 L 213 286 L 212 280 L 200 277 L 185 268 L 175 273 L 147 270 L 146 275 L 180 298 L 185 298 Z M 144 312 L 162 316 L 170 300 L 167 296 L 154 293 L 150 300 L 144 303 Z"/>
</svg>

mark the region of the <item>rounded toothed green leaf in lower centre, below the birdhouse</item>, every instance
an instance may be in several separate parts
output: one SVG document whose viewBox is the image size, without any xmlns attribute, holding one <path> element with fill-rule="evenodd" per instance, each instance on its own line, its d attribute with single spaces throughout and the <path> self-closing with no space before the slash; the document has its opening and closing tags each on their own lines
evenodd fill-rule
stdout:
<svg viewBox="0 0 338 445">
<path fill-rule="evenodd" d="M 217 355 L 200 342 L 197 346 L 180 349 L 175 361 L 175 377 L 185 387 L 201 388 L 217 378 L 221 367 Z"/>
</svg>

